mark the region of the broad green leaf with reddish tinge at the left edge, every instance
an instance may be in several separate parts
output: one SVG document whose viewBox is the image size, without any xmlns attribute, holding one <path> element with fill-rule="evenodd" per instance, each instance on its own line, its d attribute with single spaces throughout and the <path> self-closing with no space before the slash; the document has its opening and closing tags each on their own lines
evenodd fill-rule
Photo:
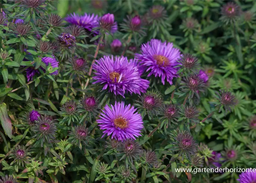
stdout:
<svg viewBox="0 0 256 183">
<path fill-rule="evenodd" d="M 12 131 L 11 120 L 8 116 L 7 106 L 5 103 L 0 104 L 0 121 L 1 121 L 1 125 L 3 127 L 3 130 L 5 131 L 7 136 L 11 139 L 12 138 L 12 136 L 11 136 L 11 131 Z"/>
</svg>

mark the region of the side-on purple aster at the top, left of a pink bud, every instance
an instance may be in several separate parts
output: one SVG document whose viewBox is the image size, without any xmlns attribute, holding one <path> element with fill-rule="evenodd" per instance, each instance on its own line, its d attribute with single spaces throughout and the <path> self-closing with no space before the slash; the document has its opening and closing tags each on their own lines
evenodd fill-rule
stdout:
<svg viewBox="0 0 256 183">
<path fill-rule="evenodd" d="M 68 23 L 79 25 L 81 27 L 84 27 L 86 30 L 91 31 L 94 27 L 97 26 L 97 19 L 98 16 L 94 14 L 87 14 L 84 15 L 77 15 L 75 13 L 70 14 L 68 17 L 65 18 L 65 20 Z"/>
</svg>

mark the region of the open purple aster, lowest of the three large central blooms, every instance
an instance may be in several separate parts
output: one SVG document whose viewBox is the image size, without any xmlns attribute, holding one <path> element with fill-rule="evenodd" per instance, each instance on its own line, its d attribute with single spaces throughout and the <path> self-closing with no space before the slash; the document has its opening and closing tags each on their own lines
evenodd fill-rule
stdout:
<svg viewBox="0 0 256 183">
<path fill-rule="evenodd" d="M 115 105 L 105 106 L 102 110 L 100 119 L 97 120 L 103 136 L 112 134 L 112 139 L 119 141 L 141 136 L 140 132 L 143 128 L 141 115 L 136 112 L 133 106 L 124 105 L 124 102 L 115 102 Z M 103 137 L 102 136 L 102 137 Z"/>
</svg>

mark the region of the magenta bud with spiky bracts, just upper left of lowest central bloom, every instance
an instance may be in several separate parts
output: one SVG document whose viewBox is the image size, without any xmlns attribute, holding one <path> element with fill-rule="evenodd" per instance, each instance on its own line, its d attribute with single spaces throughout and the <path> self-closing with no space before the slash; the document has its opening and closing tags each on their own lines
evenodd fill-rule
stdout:
<svg viewBox="0 0 256 183">
<path fill-rule="evenodd" d="M 98 113 L 99 100 L 94 96 L 85 96 L 85 98 L 80 100 L 80 110 L 81 112 L 92 112 L 93 115 Z"/>
</svg>

